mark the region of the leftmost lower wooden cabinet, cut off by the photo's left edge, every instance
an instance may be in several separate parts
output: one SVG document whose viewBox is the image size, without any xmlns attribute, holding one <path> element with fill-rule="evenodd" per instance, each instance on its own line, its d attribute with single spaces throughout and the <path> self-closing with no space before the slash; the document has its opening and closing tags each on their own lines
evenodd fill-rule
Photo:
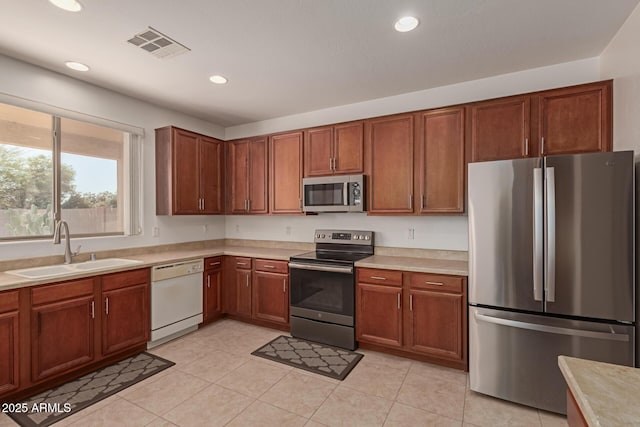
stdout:
<svg viewBox="0 0 640 427">
<path fill-rule="evenodd" d="M 20 386 L 18 291 L 0 293 L 0 396 Z"/>
</svg>

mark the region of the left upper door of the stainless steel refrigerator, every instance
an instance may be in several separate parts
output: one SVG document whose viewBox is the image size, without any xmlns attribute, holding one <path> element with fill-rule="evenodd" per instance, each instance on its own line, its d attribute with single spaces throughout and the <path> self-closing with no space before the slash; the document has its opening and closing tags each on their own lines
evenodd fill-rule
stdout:
<svg viewBox="0 0 640 427">
<path fill-rule="evenodd" d="M 470 303 L 543 310 L 541 165 L 541 159 L 469 164 Z"/>
</svg>

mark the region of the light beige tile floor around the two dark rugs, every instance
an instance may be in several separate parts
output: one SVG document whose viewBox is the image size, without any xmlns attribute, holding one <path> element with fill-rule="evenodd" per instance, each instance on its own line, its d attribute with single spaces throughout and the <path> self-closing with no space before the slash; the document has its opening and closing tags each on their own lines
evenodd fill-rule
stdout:
<svg viewBox="0 0 640 427">
<path fill-rule="evenodd" d="M 151 350 L 176 363 L 56 426 L 566 426 L 469 390 L 467 374 L 382 353 L 344 381 L 251 352 L 282 332 L 221 320 Z M 15 426 L 0 414 L 0 427 Z"/>
</svg>

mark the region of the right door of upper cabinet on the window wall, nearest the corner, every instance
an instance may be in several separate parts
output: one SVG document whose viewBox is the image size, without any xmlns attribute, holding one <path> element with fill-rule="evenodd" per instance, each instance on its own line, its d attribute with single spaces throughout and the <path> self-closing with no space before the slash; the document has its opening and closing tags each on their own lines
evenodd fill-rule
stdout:
<svg viewBox="0 0 640 427">
<path fill-rule="evenodd" d="M 223 143 L 200 137 L 200 197 L 202 213 L 224 212 Z"/>
</svg>

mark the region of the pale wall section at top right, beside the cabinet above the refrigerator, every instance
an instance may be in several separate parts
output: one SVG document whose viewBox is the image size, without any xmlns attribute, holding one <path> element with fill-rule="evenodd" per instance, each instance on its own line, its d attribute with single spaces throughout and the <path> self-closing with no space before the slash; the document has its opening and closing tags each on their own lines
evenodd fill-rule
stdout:
<svg viewBox="0 0 640 427">
<path fill-rule="evenodd" d="M 640 5 L 600 56 L 600 74 L 613 82 L 613 147 L 640 155 Z"/>
</svg>

